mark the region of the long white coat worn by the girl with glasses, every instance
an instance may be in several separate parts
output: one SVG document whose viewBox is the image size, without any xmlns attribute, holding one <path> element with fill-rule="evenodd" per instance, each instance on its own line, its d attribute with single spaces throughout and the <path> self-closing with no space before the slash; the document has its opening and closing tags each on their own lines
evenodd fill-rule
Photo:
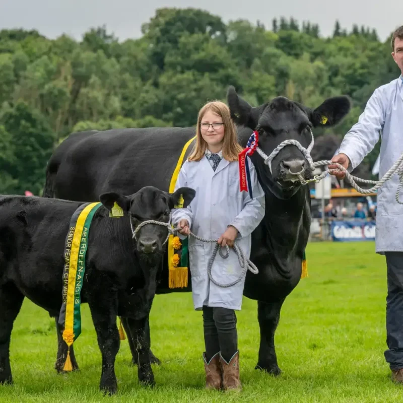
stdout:
<svg viewBox="0 0 403 403">
<path fill-rule="evenodd" d="M 251 233 L 264 217 L 265 200 L 255 168 L 250 159 L 248 162 L 253 199 L 250 199 L 249 192 L 241 193 L 239 190 L 238 162 L 221 159 L 214 172 L 206 156 L 200 161 L 185 161 L 175 190 L 188 186 L 196 191 L 196 195 L 187 208 L 172 211 L 172 222 L 177 224 L 181 219 L 186 219 L 192 233 L 208 239 L 218 239 L 228 225 L 233 225 L 239 231 L 235 240 L 249 257 Z M 228 288 L 216 286 L 208 277 L 207 267 L 215 245 L 189 237 L 194 309 L 200 310 L 207 305 L 240 310 L 245 276 L 238 284 Z M 212 276 L 217 282 L 231 283 L 241 273 L 242 268 L 233 248 L 230 248 L 227 259 L 217 252 L 212 267 Z"/>
</svg>

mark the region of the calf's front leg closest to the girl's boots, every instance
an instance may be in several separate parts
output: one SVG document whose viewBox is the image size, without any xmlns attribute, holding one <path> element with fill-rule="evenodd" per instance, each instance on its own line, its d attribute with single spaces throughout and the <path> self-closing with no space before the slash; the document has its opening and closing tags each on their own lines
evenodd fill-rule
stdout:
<svg viewBox="0 0 403 403">
<path fill-rule="evenodd" d="M 150 343 L 147 338 L 147 317 L 130 319 L 133 344 L 136 346 L 139 381 L 145 385 L 155 385 L 153 369 L 150 362 Z"/>
</svg>

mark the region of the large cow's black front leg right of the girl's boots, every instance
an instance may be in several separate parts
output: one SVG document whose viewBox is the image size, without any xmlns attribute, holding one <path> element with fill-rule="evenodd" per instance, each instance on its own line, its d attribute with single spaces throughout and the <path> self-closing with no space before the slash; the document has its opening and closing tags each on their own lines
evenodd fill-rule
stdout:
<svg viewBox="0 0 403 403">
<path fill-rule="evenodd" d="M 274 347 L 274 333 L 280 320 L 280 310 L 284 299 L 279 302 L 257 301 L 257 318 L 260 326 L 259 360 L 255 369 L 262 369 L 273 375 L 280 375 Z"/>
</svg>

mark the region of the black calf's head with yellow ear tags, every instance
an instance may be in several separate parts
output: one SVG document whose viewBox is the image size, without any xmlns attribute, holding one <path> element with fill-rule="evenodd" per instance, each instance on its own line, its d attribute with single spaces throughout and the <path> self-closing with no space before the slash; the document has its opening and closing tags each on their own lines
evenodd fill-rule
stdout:
<svg viewBox="0 0 403 403">
<path fill-rule="evenodd" d="M 136 230 L 141 223 L 149 220 L 168 223 L 170 212 L 178 205 L 181 197 L 183 207 L 187 207 L 195 194 L 195 190 L 189 187 L 181 187 L 174 193 L 168 193 L 153 186 L 146 186 L 130 196 L 115 192 L 103 193 L 100 195 L 100 201 L 109 211 L 116 203 L 124 214 L 129 216 L 131 227 Z M 148 259 L 162 253 L 167 235 L 167 226 L 147 224 L 139 229 L 133 241 L 141 257 Z"/>
</svg>

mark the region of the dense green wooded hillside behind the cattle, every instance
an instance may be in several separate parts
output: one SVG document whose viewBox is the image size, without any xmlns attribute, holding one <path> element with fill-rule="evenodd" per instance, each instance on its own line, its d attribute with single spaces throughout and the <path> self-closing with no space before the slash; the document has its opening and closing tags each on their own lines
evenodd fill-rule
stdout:
<svg viewBox="0 0 403 403">
<path fill-rule="evenodd" d="M 315 131 L 325 148 L 340 142 L 376 87 L 397 77 L 389 41 L 338 21 L 322 38 L 317 24 L 293 18 L 269 29 L 191 8 L 158 9 L 140 38 L 122 42 L 105 26 L 81 41 L 2 30 L 0 193 L 41 194 L 54 147 L 73 131 L 191 126 L 206 101 L 225 101 L 229 85 L 253 106 L 279 95 L 310 107 L 350 96 L 345 121 Z M 367 176 L 376 155 L 362 164 Z"/>
</svg>

